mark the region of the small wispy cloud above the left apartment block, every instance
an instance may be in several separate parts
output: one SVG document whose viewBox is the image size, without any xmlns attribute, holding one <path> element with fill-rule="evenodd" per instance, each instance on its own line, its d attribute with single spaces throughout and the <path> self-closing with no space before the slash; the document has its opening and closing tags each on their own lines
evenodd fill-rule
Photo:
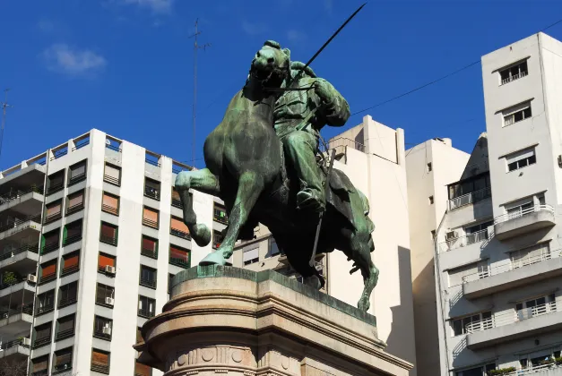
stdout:
<svg viewBox="0 0 562 376">
<path fill-rule="evenodd" d="M 103 56 L 90 49 L 73 49 L 63 43 L 48 47 L 43 51 L 43 57 L 50 71 L 73 77 L 91 76 L 108 64 Z"/>
</svg>

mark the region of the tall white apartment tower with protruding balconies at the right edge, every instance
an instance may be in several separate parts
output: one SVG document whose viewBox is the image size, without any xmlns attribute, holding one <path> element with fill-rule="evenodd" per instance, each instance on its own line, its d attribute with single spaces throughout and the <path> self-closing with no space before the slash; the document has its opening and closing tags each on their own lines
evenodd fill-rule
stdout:
<svg viewBox="0 0 562 376">
<path fill-rule="evenodd" d="M 437 230 L 441 374 L 562 375 L 562 43 L 500 48 L 482 77 L 488 132 Z"/>
</svg>

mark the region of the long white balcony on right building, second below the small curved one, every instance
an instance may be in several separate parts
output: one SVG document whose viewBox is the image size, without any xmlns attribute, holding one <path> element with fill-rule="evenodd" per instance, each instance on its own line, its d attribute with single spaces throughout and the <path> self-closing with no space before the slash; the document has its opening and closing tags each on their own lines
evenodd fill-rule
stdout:
<svg viewBox="0 0 562 376">
<path fill-rule="evenodd" d="M 551 302 L 521 311 L 500 312 L 491 319 L 473 321 L 466 329 L 467 347 L 477 350 L 562 329 L 562 312 L 556 302 Z"/>
</svg>

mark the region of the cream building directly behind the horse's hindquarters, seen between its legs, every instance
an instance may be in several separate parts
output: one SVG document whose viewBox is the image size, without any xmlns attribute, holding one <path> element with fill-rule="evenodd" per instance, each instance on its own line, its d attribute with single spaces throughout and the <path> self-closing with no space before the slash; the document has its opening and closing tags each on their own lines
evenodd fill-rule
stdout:
<svg viewBox="0 0 562 376">
<path fill-rule="evenodd" d="M 380 276 L 369 312 L 376 315 L 378 337 L 388 344 L 389 354 L 416 364 L 404 133 L 367 115 L 362 124 L 334 137 L 329 144 L 337 150 L 333 167 L 345 172 L 365 193 L 369 217 L 376 226 L 373 261 Z M 293 274 L 267 228 L 260 226 L 255 235 L 254 241 L 238 244 L 233 265 Z M 359 272 L 350 275 L 351 262 L 343 252 L 320 255 L 316 261 L 326 279 L 324 292 L 357 306 L 363 278 Z M 423 374 L 417 370 L 414 367 L 411 375 Z"/>
</svg>

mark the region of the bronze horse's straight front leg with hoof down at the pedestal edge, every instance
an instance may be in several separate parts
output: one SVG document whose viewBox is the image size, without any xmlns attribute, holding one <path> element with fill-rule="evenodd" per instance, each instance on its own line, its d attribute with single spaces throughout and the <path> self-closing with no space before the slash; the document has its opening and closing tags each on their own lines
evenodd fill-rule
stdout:
<svg viewBox="0 0 562 376">
<path fill-rule="evenodd" d="M 217 251 L 212 252 L 199 265 L 224 265 L 234 252 L 234 244 L 238 240 L 238 235 L 242 226 L 246 223 L 255 202 L 264 191 L 264 178 L 255 172 L 245 172 L 238 179 L 238 192 L 234 206 L 230 210 L 229 227 L 227 235 L 220 244 Z"/>
</svg>

